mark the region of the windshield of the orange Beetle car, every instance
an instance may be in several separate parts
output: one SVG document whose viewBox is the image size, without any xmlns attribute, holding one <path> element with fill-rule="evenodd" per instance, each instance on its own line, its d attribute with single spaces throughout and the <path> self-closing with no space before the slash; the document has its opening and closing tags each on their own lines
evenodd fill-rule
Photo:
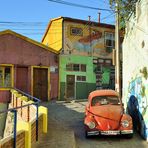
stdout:
<svg viewBox="0 0 148 148">
<path fill-rule="evenodd" d="M 118 105 L 120 104 L 119 98 L 117 96 L 95 96 L 92 98 L 92 106 L 107 104 Z"/>
</svg>

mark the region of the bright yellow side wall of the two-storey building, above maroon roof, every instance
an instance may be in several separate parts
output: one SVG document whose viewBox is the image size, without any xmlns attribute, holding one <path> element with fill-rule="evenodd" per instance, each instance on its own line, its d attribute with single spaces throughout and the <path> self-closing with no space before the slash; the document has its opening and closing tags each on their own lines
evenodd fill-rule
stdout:
<svg viewBox="0 0 148 148">
<path fill-rule="evenodd" d="M 51 20 L 43 44 L 56 51 L 62 48 L 62 18 Z"/>
</svg>

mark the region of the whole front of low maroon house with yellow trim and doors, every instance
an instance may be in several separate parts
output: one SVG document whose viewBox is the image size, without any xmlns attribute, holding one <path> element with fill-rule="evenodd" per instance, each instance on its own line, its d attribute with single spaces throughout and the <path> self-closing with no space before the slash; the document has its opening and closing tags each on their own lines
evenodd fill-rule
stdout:
<svg viewBox="0 0 148 148">
<path fill-rule="evenodd" d="M 8 90 L 12 87 L 42 101 L 57 98 L 57 54 L 11 30 L 0 32 L 0 102 L 10 101 Z"/>
</svg>

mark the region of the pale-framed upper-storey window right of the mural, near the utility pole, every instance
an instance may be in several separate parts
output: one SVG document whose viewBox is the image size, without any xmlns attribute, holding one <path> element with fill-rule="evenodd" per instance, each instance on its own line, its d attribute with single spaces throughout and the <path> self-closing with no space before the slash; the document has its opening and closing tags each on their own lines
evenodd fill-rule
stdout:
<svg viewBox="0 0 148 148">
<path fill-rule="evenodd" d="M 105 32 L 105 46 L 106 47 L 115 47 L 114 33 Z"/>
</svg>

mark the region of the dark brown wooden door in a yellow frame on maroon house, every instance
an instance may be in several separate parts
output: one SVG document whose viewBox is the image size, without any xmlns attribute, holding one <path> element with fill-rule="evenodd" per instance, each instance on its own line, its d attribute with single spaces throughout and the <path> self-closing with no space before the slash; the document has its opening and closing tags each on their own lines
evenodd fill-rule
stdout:
<svg viewBox="0 0 148 148">
<path fill-rule="evenodd" d="M 33 96 L 42 101 L 48 100 L 48 69 L 33 69 Z"/>
</svg>

